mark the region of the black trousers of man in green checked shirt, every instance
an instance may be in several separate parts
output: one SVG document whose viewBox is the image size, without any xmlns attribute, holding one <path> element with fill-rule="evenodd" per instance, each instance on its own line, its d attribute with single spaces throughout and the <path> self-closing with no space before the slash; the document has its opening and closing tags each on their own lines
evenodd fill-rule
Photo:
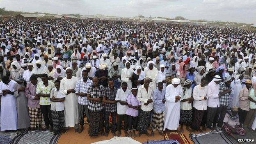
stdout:
<svg viewBox="0 0 256 144">
<path fill-rule="evenodd" d="M 53 127 L 53 119 L 52 119 L 50 106 L 51 105 L 40 105 L 41 111 L 43 114 L 44 123 L 46 124 L 46 126 L 50 125 L 51 127 Z"/>
</svg>

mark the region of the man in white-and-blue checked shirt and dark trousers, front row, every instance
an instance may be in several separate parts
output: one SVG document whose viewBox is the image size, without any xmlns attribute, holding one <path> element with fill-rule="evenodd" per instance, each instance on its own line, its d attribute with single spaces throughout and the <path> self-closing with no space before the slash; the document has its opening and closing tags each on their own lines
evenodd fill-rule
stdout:
<svg viewBox="0 0 256 144">
<path fill-rule="evenodd" d="M 84 114 L 89 121 L 88 101 L 87 101 L 87 90 L 93 85 L 92 81 L 88 78 L 88 72 L 82 71 L 82 79 L 78 80 L 75 86 L 75 94 L 78 96 L 78 112 L 79 112 L 79 123 L 80 128 L 78 133 L 82 133 L 84 129 Z"/>
</svg>

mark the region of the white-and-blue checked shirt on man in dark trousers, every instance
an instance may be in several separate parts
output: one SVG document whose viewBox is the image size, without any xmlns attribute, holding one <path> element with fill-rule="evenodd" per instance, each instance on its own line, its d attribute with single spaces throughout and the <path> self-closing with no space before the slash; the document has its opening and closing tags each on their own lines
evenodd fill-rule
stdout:
<svg viewBox="0 0 256 144">
<path fill-rule="evenodd" d="M 86 82 L 84 82 L 83 79 L 78 80 L 78 82 L 76 82 L 75 85 L 75 93 L 87 93 L 87 89 L 93 85 L 92 80 L 90 80 L 89 78 L 87 79 Z M 88 105 L 88 101 L 87 101 L 87 97 L 86 96 L 78 96 L 78 103 L 80 105 Z"/>
</svg>

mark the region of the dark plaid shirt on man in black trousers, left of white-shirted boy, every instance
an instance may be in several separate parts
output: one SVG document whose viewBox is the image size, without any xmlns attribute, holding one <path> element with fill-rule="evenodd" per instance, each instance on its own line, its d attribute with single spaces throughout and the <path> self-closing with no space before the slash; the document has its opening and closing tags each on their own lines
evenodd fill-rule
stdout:
<svg viewBox="0 0 256 144">
<path fill-rule="evenodd" d="M 102 91 L 102 96 L 106 98 L 107 101 L 114 101 L 117 95 L 117 88 L 110 89 L 110 87 L 105 87 Z M 105 111 L 107 112 L 116 112 L 117 104 L 116 103 L 105 103 Z"/>
</svg>

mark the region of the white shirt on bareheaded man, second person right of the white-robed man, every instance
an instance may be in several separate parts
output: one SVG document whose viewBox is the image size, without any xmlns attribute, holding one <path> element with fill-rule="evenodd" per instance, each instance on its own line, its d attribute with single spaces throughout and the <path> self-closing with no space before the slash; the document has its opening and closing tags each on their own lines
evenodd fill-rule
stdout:
<svg viewBox="0 0 256 144">
<path fill-rule="evenodd" d="M 193 107 L 197 110 L 207 110 L 207 100 L 204 100 L 204 97 L 207 97 L 207 86 L 201 87 L 201 85 L 197 85 L 193 90 Z M 208 98 L 208 97 L 207 97 Z M 200 101 L 202 100 L 202 101 Z"/>
</svg>

